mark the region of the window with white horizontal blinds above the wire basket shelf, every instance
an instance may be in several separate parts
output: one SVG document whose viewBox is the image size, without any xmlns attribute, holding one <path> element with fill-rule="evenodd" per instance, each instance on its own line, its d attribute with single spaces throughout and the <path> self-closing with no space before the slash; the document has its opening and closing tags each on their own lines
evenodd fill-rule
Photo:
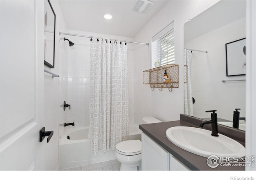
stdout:
<svg viewBox="0 0 256 180">
<path fill-rule="evenodd" d="M 152 68 L 174 63 L 174 22 L 152 38 Z"/>
</svg>

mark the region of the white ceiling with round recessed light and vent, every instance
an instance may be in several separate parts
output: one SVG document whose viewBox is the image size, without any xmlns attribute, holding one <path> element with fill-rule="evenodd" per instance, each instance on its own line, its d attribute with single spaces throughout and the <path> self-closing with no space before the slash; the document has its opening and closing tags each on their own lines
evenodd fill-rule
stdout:
<svg viewBox="0 0 256 180">
<path fill-rule="evenodd" d="M 134 38 L 167 1 L 151 0 L 154 6 L 146 13 L 133 11 L 134 2 L 134 0 L 59 0 L 68 29 L 130 38 Z M 104 13 L 113 14 L 114 17 L 112 20 L 105 20 Z"/>
</svg>

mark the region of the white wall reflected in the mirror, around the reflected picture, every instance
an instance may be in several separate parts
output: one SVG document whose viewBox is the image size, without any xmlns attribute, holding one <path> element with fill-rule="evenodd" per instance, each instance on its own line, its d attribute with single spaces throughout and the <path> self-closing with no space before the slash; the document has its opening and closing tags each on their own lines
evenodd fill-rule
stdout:
<svg viewBox="0 0 256 180">
<path fill-rule="evenodd" d="M 225 51 L 226 43 L 246 37 L 245 25 L 242 18 L 185 43 L 185 48 L 208 51 L 207 54 L 193 52 L 194 116 L 210 117 L 205 111 L 216 109 L 219 118 L 232 121 L 233 111 L 240 108 L 240 117 L 245 117 L 245 81 L 222 82 L 223 79 L 245 79 L 245 76 L 226 76 Z"/>
</svg>

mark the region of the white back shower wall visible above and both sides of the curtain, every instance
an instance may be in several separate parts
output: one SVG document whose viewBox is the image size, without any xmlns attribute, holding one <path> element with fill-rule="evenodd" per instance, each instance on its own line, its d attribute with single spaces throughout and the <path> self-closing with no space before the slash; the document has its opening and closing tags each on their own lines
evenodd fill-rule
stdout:
<svg viewBox="0 0 256 180">
<path fill-rule="evenodd" d="M 68 30 L 71 34 L 80 34 L 84 36 L 94 36 L 102 38 L 112 38 L 117 40 L 132 41 L 132 38 L 112 36 L 108 34 L 97 34 L 93 32 L 82 32 L 77 30 Z M 79 128 L 90 126 L 90 38 L 61 35 L 61 38 L 67 38 L 75 45 L 69 47 L 68 41 L 65 41 L 67 50 L 67 77 L 68 77 L 68 99 L 67 104 L 71 104 L 71 109 L 66 108 L 68 113 L 66 123 L 74 122 L 75 126 L 66 126 L 65 130 L 70 128 Z M 133 44 L 128 43 L 128 88 L 129 88 L 129 119 L 133 121 Z M 63 67 L 64 68 L 64 67 Z M 63 102 L 62 102 L 63 103 Z"/>
</svg>

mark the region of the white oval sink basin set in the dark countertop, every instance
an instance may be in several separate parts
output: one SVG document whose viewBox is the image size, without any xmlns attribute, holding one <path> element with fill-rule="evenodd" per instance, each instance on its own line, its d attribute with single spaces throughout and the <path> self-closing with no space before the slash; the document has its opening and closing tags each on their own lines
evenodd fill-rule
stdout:
<svg viewBox="0 0 256 180">
<path fill-rule="evenodd" d="M 245 148 L 239 142 L 219 133 L 218 137 L 212 136 L 211 131 L 176 126 L 166 130 L 166 137 L 176 146 L 208 158 L 216 156 L 245 156 Z"/>
</svg>

